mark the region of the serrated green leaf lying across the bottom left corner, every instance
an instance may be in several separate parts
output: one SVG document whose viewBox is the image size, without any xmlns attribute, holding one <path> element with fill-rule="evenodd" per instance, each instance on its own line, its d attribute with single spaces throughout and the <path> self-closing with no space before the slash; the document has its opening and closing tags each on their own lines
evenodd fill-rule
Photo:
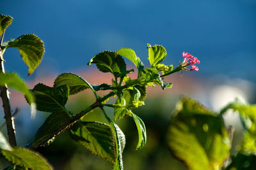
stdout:
<svg viewBox="0 0 256 170">
<path fill-rule="evenodd" d="M 15 147 L 12 151 L 1 150 L 1 152 L 6 159 L 19 166 L 38 170 L 52 169 L 52 166 L 44 157 L 42 157 L 39 153 L 28 150 L 27 148 Z"/>
</svg>

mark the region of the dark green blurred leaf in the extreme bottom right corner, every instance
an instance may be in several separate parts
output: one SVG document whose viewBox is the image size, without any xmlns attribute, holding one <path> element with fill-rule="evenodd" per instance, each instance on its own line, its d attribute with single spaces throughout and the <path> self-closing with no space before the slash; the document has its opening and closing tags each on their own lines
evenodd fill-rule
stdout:
<svg viewBox="0 0 256 170">
<path fill-rule="evenodd" d="M 256 169 L 256 156 L 255 155 L 244 155 L 242 153 L 237 153 L 236 156 L 232 157 L 231 164 L 227 169 L 233 170 L 251 170 Z"/>
</svg>

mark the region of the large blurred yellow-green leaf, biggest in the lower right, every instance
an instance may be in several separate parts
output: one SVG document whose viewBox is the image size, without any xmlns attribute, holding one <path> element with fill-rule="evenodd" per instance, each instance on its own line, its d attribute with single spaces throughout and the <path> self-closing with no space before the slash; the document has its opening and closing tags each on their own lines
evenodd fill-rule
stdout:
<svg viewBox="0 0 256 170">
<path fill-rule="evenodd" d="M 220 169 L 230 150 L 223 119 L 188 98 L 177 104 L 167 143 L 188 169 Z"/>
</svg>

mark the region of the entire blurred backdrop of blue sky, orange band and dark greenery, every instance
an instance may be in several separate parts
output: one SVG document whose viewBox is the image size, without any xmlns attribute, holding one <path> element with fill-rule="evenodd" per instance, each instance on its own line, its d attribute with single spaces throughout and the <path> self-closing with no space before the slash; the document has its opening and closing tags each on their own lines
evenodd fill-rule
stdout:
<svg viewBox="0 0 256 170">
<path fill-rule="evenodd" d="M 110 83 L 111 76 L 97 71 L 87 62 L 103 50 L 132 48 L 145 66 L 149 66 L 147 43 L 163 45 L 167 50 L 164 64 L 178 66 L 182 52 L 198 57 L 199 71 L 184 71 L 166 78 L 172 89 L 149 87 L 145 106 L 134 109 L 147 127 L 147 145 L 134 151 L 138 134 L 131 118 L 117 124 L 126 136 L 123 153 L 125 169 L 186 169 L 173 159 L 165 132 L 175 103 L 182 95 L 193 97 L 214 111 L 236 97 L 256 102 L 256 1 L 254 0 L 110 0 L 110 1 L 15 1 L 1 0 L 0 13 L 11 15 L 12 25 L 4 41 L 34 33 L 45 43 L 41 64 L 31 76 L 17 49 L 6 50 L 6 71 L 17 72 L 31 89 L 36 83 L 52 86 L 61 73 L 76 73 L 90 83 Z M 127 61 L 127 60 L 126 60 Z M 127 61 L 128 67 L 132 63 Z M 30 118 L 24 97 L 11 90 L 12 109 L 20 108 L 15 118 L 19 145 L 25 145 L 49 113 L 37 112 Z M 71 96 L 67 108 L 77 113 L 94 102 L 91 92 Z M 114 102 L 114 101 L 109 101 Z M 0 102 L 1 103 L 1 102 Z M 108 110 L 109 116 L 113 110 Z M 84 120 L 104 122 L 99 110 Z M 3 124 L 3 108 L 0 108 Z M 234 114 L 227 125 L 236 126 L 234 143 L 241 139 L 241 125 Z M 2 132 L 6 132 L 3 127 Z M 236 146 L 236 145 L 234 145 Z M 235 148 L 234 148 L 235 150 Z M 92 155 L 63 133 L 49 146 L 38 148 L 55 169 L 111 169 L 106 160 Z"/>
</svg>

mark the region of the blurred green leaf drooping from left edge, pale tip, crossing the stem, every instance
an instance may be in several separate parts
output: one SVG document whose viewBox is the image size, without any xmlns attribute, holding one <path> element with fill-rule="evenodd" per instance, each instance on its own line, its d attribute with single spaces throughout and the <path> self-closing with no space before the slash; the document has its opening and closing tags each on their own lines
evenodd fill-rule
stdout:
<svg viewBox="0 0 256 170">
<path fill-rule="evenodd" d="M 0 73 L 0 85 L 5 86 L 5 84 L 24 94 L 29 104 L 35 103 L 35 98 L 28 86 L 16 73 Z"/>
</svg>

